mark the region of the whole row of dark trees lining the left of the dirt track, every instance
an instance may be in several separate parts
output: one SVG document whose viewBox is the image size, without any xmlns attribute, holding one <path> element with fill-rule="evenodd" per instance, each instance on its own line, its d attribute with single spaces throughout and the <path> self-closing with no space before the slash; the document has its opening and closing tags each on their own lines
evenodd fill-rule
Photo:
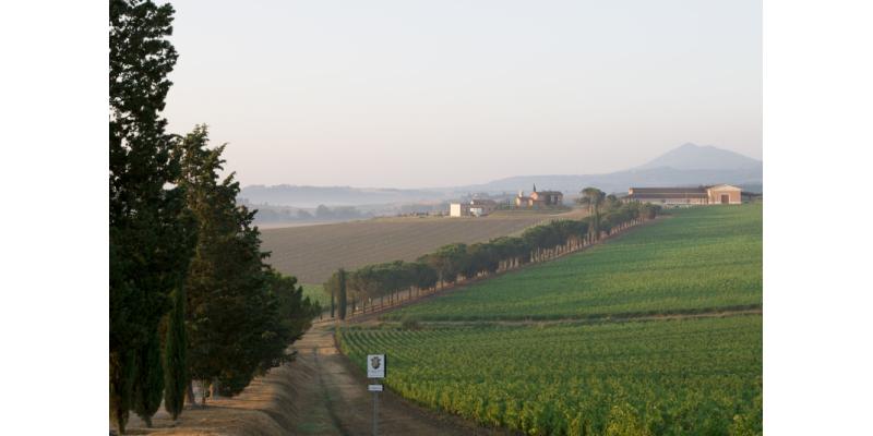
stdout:
<svg viewBox="0 0 873 436">
<path fill-rule="evenodd" d="M 219 175 L 224 146 L 205 125 L 166 132 L 172 15 L 109 3 L 109 416 L 122 434 L 131 411 L 151 426 L 162 402 L 174 420 L 186 397 L 196 404 L 193 382 L 201 403 L 239 393 L 292 358 L 321 311 L 265 263 L 255 211 Z"/>
</svg>

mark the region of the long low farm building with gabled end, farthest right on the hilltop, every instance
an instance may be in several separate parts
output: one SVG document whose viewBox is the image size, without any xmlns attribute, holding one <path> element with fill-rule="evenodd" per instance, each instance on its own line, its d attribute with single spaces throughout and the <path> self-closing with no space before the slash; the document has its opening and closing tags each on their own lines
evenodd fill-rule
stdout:
<svg viewBox="0 0 873 436">
<path fill-rule="evenodd" d="M 741 204 L 742 190 L 729 184 L 697 187 L 631 187 L 627 201 L 662 205 Z"/>
</svg>

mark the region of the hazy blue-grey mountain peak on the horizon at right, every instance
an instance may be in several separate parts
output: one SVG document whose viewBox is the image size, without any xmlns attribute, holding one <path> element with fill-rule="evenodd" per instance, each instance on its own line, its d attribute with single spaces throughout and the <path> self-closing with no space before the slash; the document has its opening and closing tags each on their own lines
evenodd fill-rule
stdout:
<svg viewBox="0 0 873 436">
<path fill-rule="evenodd" d="M 758 168 L 761 165 L 761 160 L 739 153 L 711 145 L 685 143 L 635 169 L 744 170 Z"/>
</svg>

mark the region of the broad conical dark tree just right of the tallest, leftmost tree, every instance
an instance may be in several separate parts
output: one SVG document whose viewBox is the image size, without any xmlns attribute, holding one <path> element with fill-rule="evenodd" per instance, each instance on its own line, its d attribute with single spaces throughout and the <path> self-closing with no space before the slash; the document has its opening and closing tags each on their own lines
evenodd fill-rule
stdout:
<svg viewBox="0 0 873 436">
<path fill-rule="evenodd" d="M 261 252 L 261 233 L 253 226 L 255 211 L 237 205 L 240 189 L 232 173 L 219 178 L 224 146 L 208 148 L 207 143 L 203 125 L 179 143 L 179 185 L 198 227 L 184 283 L 188 361 L 192 379 L 213 393 L 234 396 L 288 359 L 285 349 L 295 335 L 282 319 L 288 314 L 283 315 L 280 294 L 296 281 L 278 278 L 264 263 L 267 254 Z M 309 303 L 291 306 L 309 316 Z"/>
</svg>

